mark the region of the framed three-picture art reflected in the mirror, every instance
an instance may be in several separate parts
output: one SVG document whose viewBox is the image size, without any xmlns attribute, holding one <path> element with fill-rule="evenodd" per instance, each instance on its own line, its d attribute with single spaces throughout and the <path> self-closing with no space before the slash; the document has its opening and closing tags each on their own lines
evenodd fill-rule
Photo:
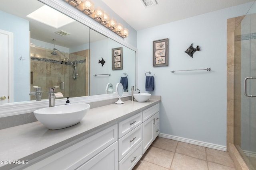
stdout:
<svg viewBox="0 0 256 170">
<path fill-rule="evenodd" d="M 112 70 L 123 69 L 123 48 L 112 49 Z"/>
</svg>

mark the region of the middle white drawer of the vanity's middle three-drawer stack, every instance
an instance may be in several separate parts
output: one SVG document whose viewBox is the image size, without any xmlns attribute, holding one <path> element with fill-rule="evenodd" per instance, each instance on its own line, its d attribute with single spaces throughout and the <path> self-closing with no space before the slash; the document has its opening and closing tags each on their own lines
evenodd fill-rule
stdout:
<svg viewBox="0 0 256 170">
<path fill-rule="evenodd" d="M 142 124 L 124 135 L 119 142 L 119 161 L 142 140 Z"/>
</svg>

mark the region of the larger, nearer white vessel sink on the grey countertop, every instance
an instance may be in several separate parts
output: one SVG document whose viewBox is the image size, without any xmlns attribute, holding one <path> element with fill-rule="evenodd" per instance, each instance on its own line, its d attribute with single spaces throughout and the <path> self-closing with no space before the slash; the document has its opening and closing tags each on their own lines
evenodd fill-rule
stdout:
<svg viewBox="0 0 256 170">
<path fill-rule="evenodd" d="M 38 109 L 34 115 L 48 129 L 54 130 L 79 123 L 89 109 L 89 104 L 69 104 Z"/>
</svg>

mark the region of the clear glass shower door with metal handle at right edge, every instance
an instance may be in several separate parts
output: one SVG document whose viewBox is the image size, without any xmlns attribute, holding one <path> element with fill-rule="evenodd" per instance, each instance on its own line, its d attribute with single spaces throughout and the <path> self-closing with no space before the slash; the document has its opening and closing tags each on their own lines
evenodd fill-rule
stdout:
<svg viewBox="0 0 256 170">
<path fill-rule="evenodd" d="M 256 169 L 256 4 L 240 25 L 240 153 Z M 235 93 L 236 95 L 236 93 Z M 236 106 L 235 106 L 236 108 Z M 235 121 L 239 120 L 235 117 Z M 237 133 L 238 131 L 234 131 Z M 238 149 L 239 150 L 239 149 Z"/>
</svg>

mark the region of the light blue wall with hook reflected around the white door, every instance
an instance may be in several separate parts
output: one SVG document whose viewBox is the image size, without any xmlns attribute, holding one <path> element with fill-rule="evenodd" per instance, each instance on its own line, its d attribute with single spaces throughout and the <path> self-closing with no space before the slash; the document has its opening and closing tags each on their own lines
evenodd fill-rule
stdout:
<svg viewBox="0 0 256 170">
<path fill-rule="evenodd" d="M 29 22 L 0 11 L 0 23 L 0 29 L 13 33 L 14 102 L 30 100 Z"/>
</svg>

